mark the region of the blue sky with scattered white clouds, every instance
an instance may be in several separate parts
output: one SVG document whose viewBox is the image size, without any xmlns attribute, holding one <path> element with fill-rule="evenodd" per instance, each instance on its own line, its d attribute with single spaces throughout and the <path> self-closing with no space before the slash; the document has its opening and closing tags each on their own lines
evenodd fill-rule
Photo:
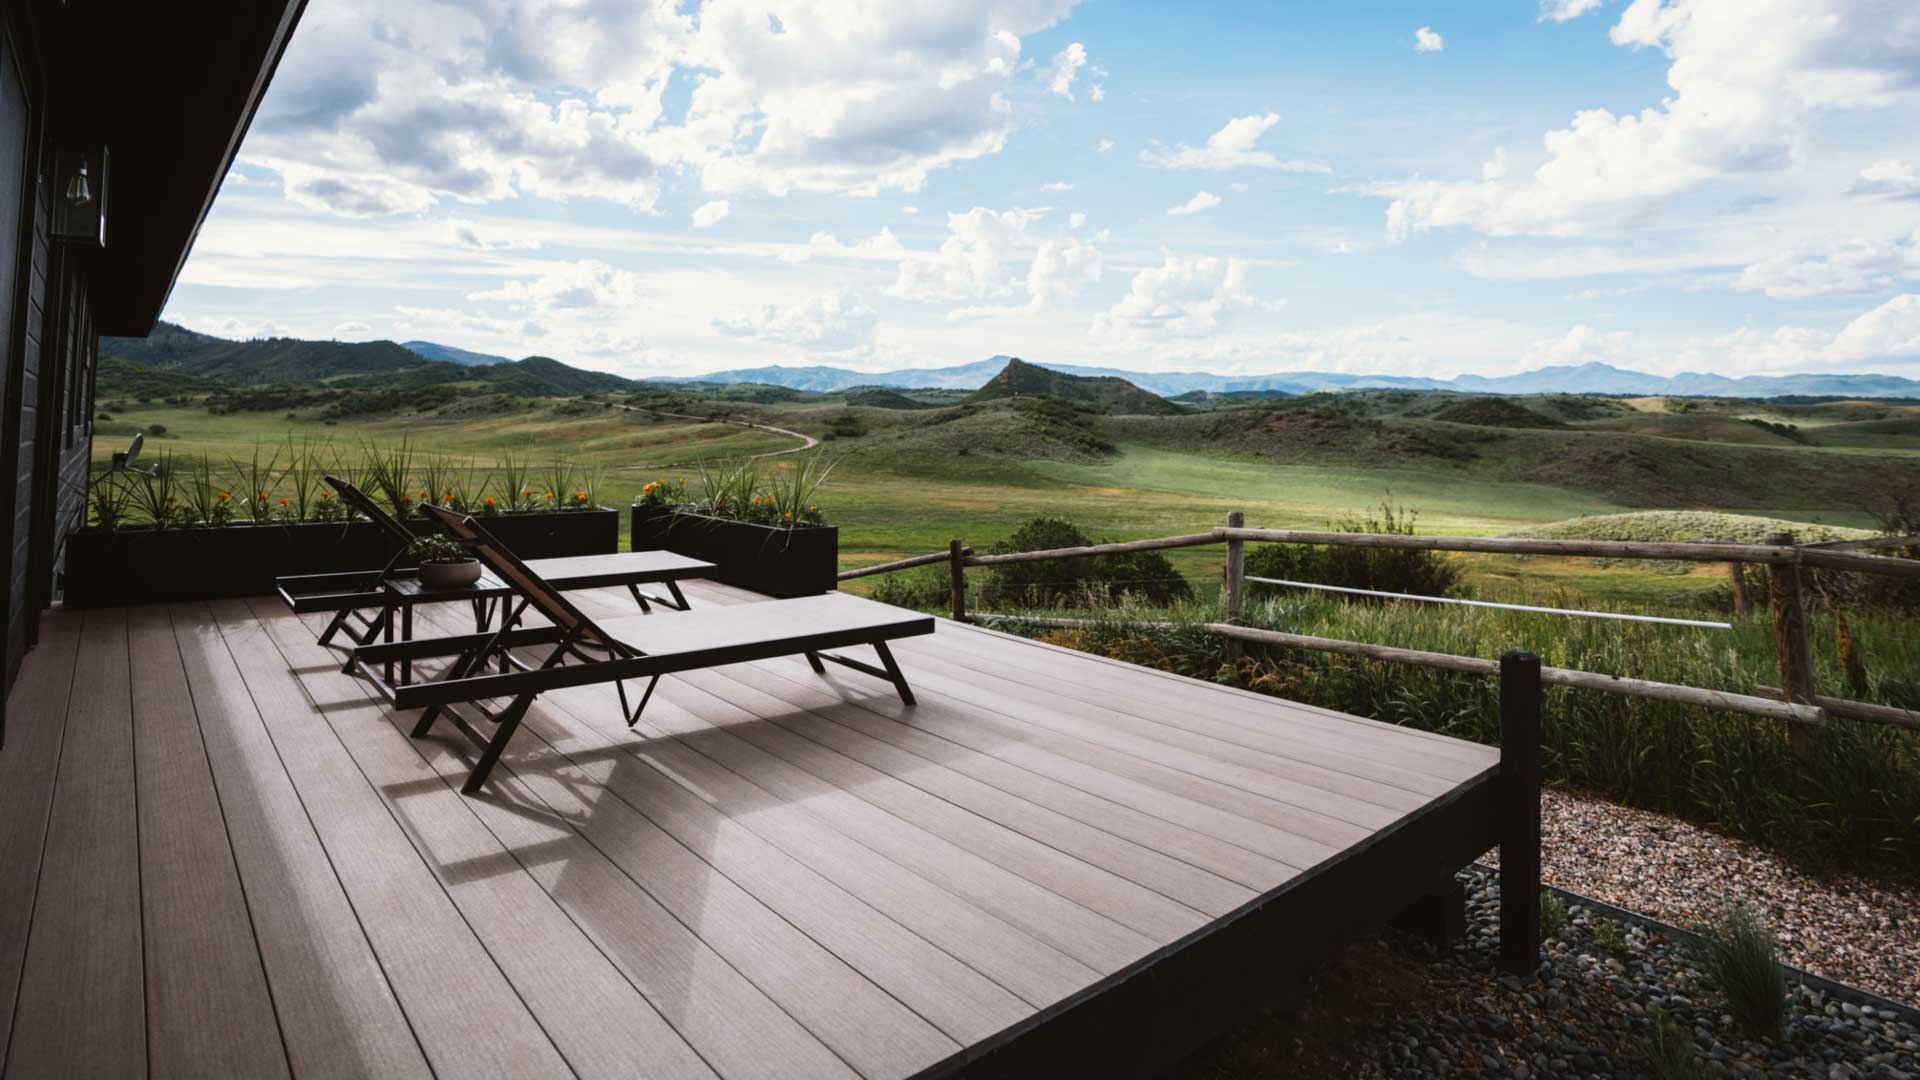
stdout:
<svg viewBox="0 0 1920 1080">
<path fill-rule="evenodd" d="M 1920 375 L 1920 4 L 315 0 L 169 319 L 622 375 Z"/>
</svg>

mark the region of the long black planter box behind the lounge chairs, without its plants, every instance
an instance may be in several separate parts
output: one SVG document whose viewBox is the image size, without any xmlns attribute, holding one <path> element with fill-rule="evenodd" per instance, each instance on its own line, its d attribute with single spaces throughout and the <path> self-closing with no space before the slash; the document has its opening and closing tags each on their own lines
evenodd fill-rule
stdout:
<svg viewBox="0 0 1920 1080">
<path fill-rule="evenodd" d="M 609 555 L 620 513 L 584 509 L 480 517 L 522 559 Z M 415 532 L 428 523 L 409 521 Z M 273 578 L 380 569 L 397 542 L 371 521 L 353 525 L 223 525 L 217 528 L 84 528 L 67 536 L 61 603 L 111 607 L 265 596 Z"/>
</svg>

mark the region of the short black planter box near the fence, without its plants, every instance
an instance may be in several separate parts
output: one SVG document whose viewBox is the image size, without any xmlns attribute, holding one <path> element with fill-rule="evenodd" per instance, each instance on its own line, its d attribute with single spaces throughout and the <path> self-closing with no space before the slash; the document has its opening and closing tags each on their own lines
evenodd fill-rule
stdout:
<svg viewBox="0 0 1920 1080">
<path fill-rule="evenodd" d="M 714 578 L 762 596 L 814 596 L 837 588 L 839 528 L 833 527 L 774 528 L 636 505 L 634 550 L 705 559 L 720 567 Z"/>
</svg>

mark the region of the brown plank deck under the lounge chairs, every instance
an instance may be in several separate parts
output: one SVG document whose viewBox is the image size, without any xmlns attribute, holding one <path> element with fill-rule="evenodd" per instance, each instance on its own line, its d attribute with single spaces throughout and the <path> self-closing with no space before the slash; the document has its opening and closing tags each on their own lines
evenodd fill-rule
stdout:
<svg viewBox="0 0 1920 1080">
<path fill-rule="evenodd" d="M 50 613 L 0 751 L 6 1076 L 1140 1070 L 1490 846 L 1490 748 L 945 621 L 897 646 L 916 707 L 799 657 L 632 732 L 564 690 L 463 798 L 470 746 L 323 623 Z"/>
</svg>

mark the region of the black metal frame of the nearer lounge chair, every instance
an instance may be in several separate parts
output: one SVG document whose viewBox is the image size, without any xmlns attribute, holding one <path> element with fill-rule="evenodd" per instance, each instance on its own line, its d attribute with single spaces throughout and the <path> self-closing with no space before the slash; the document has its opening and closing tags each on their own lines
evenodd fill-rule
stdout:
<svg viewBox="0 0 1920 1080">
<path fill-rule="evenodd" d="M 900 694 L 900 701 L 906 705 L 914 703 L 914 692 L 906 684 L 906 675 L 900 673 L 900 665 L 893 659 L 887 642 L 931 634 L 931 617 L 904 626 L 851 628 L 803 638 L 768 638 L 674 653 L 643 653 L 607 634 L 561 596 L 559 590 L 547 586 L 513 552 L 493 540 L 474 519 L 440 507 L 428 507 L 428 513 L 447 527 L 457 544 L 472 550 L 488 569 L 520 594 L 518 607 L 492 630 L 449 638 L 363 644 L 349 653 L 344 671 L 357 673 L 372 682 L 380 696 L 392 701 L 396 709 L 424 709 L 413 724 L 413 738 L 430 734 L 434 723 L 445 715 L 461 734 L 472 740 L 480 748 L 480 759 L 461 788 L 468 796 L 486 784 L 488 774 L 507 749 L 507 742 L 513 740 L 534 700 L 549 690 L 612 682 L 620 696 L 620 715 L 626 726 L 634 726 L 647 709 L 647 701 L 653 700 L 653 690 L 666 675 L 755 659 L 804 655 L 814 673 L 824 675 L 826 663 L 831 661 L 891 682 Z M 768 601 L 768 607 L 778 607 L 780 603 L 774 600 Z M 553 625 L 516 626 L 526 607 L 538 609 Z M 551 651 L 540 665 L 530 665 L 513 655 L 515 650 L 540 646 L 551 646 Z M 879 665 L 876 667 L 828 651 L 852 646 L 872 646 L 879 657 Z M 440 678 L 413 682 L 413 661 L 442 657 L 451 657 L 451 661 Z M 493 669 L 495 661 L 499 661 L 497 671 Z M 401 671 L 401 678 L 397 680 L 392 675 L 396 663 Z M 647 680 L 647 688 L 632 711 L 628 711 L 626 696 L 626 680 L 630 678 Z M 486 705 L 499 700 L 505 700 L 507 705 L 501 709 Z M 495 724 L 493 734 L 486 736 L 476 730 L 459 715 L 455 705 L 472 707 L 480 717 Z"/>
</svg>

